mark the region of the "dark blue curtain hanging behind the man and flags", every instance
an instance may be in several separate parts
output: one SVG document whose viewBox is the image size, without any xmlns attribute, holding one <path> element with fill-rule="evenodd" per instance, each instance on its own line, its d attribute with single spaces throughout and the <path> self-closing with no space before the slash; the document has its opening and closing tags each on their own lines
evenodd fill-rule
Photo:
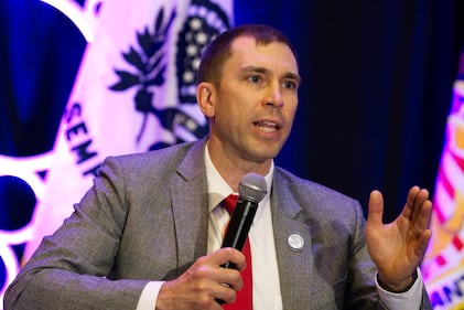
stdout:
<svg viewBox="0 0 464 310">
<path fill-rule="evenodd" d="M 463 7 L 458 0 L 236 0 L 236 24 L 277 26 L 299 52 L 300 106 L 278 164 L 364 205 L 370 190 L 381 190 L 386 220 L 402 207 L 410 185 L 433 192 Z M 0 153 L 42 153 L 53 147 L 84 38 L 39 0 L 0 1 Z"/>
</svg>

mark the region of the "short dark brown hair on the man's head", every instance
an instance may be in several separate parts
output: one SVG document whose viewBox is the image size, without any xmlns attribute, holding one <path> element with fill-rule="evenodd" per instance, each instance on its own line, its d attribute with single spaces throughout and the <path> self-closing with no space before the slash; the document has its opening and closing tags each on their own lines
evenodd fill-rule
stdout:
<svg viewBox="0 0 464 310">
<path fill-rule="evenodd" d="M 281 31 L 265 24 L 242 24 L 226 30 L 206 46 L 199 63 L 196 82 L 209 82 L 219 86 L 223 64 L 231 55 L 230 45 L 239 36 L 250 36 L 257 45 L 267 45 L 271 42 L 287 44 L 296 58 L 296 53 L 290 40 Z"/>
</svg>

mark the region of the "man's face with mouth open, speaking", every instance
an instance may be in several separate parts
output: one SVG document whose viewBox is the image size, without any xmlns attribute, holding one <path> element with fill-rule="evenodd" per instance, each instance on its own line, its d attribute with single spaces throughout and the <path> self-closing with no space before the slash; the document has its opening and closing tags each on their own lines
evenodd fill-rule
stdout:
<svg viewBox="0 0 464 310">
<path fill-rule="evenodd" d="M 274 158 L 292 127 L 299 83 L 296 60 L 288 45 L 236 39 L 208 115 L 216 151 L 256 163 Z"/>
</svg>

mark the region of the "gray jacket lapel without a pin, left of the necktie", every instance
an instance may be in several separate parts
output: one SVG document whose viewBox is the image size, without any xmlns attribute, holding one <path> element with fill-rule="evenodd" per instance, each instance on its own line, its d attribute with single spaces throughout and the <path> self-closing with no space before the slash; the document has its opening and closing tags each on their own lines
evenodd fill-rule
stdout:
<svg viewBox="0 0 464 310">
<path fill-rule="evenodd" d="M 170 191 L 182 274 L 207 250 L 208 196 L 203 139 L 193 145 L 177 168 Z"/>
</svg>

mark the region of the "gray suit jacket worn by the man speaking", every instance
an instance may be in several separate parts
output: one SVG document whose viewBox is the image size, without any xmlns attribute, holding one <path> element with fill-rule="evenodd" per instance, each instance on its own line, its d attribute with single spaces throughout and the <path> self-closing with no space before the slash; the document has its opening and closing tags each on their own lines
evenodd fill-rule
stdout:
<svg viewBox="0 0 464 310">
<path fill-rule="evenodd" d="M 6 309 L 134 309 L 147 281 L 173 279 L 205 255 L 204 143 L 107 159 L 9 287 Z M 382 308 L 358 202 L 277 168 L 271 209 L 283 309 Z"/>
</svg>

